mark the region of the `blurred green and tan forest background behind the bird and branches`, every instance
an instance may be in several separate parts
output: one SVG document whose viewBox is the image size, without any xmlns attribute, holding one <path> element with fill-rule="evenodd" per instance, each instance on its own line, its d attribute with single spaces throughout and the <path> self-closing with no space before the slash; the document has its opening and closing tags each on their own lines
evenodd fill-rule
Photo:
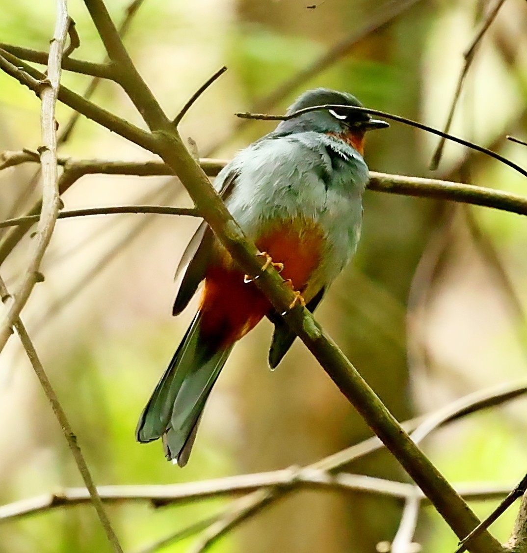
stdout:
<svg viewBox="0 0 527 553">
<path fill-rule="evenodd" d="M 229 158 L 273 124 L 241 126 L 234 112 L 281 113 L 304 90 L 354 93 L 372 108 L 441 127 L 463 51 L 494 2 L 465 0 L 144 0 L 125 39 L 134 61 L 169 114 L 215 70 L 229 67 L 181 124 L 201 155 Z M 107 0 L 122 20 L 126 0 Z M 104 53 L 86 9 L 70 2 L 81 48 Z M 0 37 L 47 48 L 54 2 L 0 0 Z M 517 163 L 526 138 L 527 4 L 508 0 L 484 36 L 468 73 L 452 132 Z M 330 53 L 328 55 L 328 53 Z M 326 56 L 324 58 L 324 56 Z M 318 69 L 304 72 L 323 60 Z M 64 75 L 82 92 L 88 77 Z M 293 83 L 293 84 L 292 84 Z M 296 83 L 296 84 L 295 84 Z M 289 86 L 291 85 L 291 86 Z M 141 124 L 116 86 L 94 99 Z M 70 111 L 59 107 L 59 123 Z M 0 149 L 36 148 L 39 101 L 0 74 Z M 519 174 L 448 144 L 428 170 L 436 138 L 392 123 L 368 136 L 372 170 L 436 176 L 525 195 Z M 150 155 L 82 120 L 62 155 L 146 160 Z M 40 194 L 35 166 L 0 173 L 0 217 L 24 213 Z M 64 195 L 67 208 L 124 204 L 190 205 L 175 179 L 88 176 Z M 527 225 L 485 208 L 367 191 L 359 251 L 335 282 L 317 318 L 399 420 L 426 413 L 489 385 L 525 374 L 523 310 Z M 175 483 L 314 462 L 370 435 L 301 343 L 267 368 L 271 326 L 262 322 L 238 346 L 216 387 L 185 469 L 167 463 L 159 443 L 136 444 L 134 429 L 151 389 L 186 330 L 193 307 L 173 319 L 173 273 L 197 221 L 117 215 L 59 221 L 46 253 L 46 280 L 23 320 L 70 416 L 98 484 Z M 6 236 L 6 232 L 2 232 Z M 1 238 L 1 237 L 0 237 Z M 2 265 L 13 284 L 29 237 Z M 194 303 L 194 306 L 196 304 Z M 437 432 L 426 452 L 452 482 L 513 484 L 525 470 L 527 403 L 518 400 Z M 346 468 L 405 479 L 386 452 Z M 60 428 L 17 338 L 0 358 L 0 503 L 80 486 Z M 127 551 L 169 535 L 226 500 L 154 510 L 109 508 Z M 475 504 L 483 516 L 489 503 Z M 213 551 L 374 551 L 391 540 L 401 505 L 338 492 L 302 491 L 258 514 Z M 506 540 L 514 513 L 493 532 Z M 426 551 L 455 549 L 446 524 L 425 508 L 418 540 Z M 190 541 L 164 550 L 185 551 Z M 106 551 L 88 506 L 55 510 L 0 527 L 0 551 Z"/>
</svg>

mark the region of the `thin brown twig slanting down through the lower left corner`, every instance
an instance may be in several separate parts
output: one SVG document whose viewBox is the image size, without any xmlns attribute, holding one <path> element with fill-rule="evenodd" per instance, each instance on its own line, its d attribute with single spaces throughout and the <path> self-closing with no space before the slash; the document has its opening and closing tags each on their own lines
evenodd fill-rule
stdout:
<svg viewBox="0 0 527 553">
<path fill-rule="evenodd" d="M 2 280 L 1 277 L 0 277 L 0 296 L 2 297 L 2 300 L 4 300 L 9 296 L 6 285 L 4 284 L 4 281 Z M 91 473 L 89 472 L 89 468 L 86 463 L 86 460 L 82 455 L 81 448 L 77 443 L 77 436 L 73 434 L 70 421 L 68 420 L 64 409 L 62 409 L 62 405 L 60 404 L 59 398 L 57 397 L 57 394 L 55 393 L 55 390 L 53 389 L 51 382 L 49 381 L 48 375 L 44 371 L 44 367 L 40 362 L 38 354 L 36 353 L 35 347 L 33 346 L 33 342 L 31 342 L 31 339 L 27 331 L 25 330 L 25 326 L 23 325 L 22 320 L 20 320 L 20 317 L 17 316 L 17 318 L 13 322 L 13 326 L 17 330 L 17 333 L 20 337 L 20 341 L 22 342 L 22 346 L 24 347 L 28 355 L 29 361 L 31 362 L 31 366 L 33 366 L 35 374 L 39 379 L 40 385 L 44 390 L 46 398 L 48 398 L 48 401 L 51 405 L 51 409 L 53 410 L 53 413 L 55 414 L 55 417 L 60 424 L 64 437 L 66 438 L 68 447 L 70 448 L 73 458 L 75 459 L 77 468 L 81 473 L 82 480 L 86 486 L 85 493 L 87 491 L 87 501 L 91 502 L 93 504 L 93 507 L 96 509 L 97 515 L 107 535 L 108 541 L 110 542 L 110 544 L 112 544 L 112 547 L 115 553 L 122 553 L 123 550 L 119 545 L 119 540 L 117 538 L 117 535 L 115 535 L 115 532 L 112 528 L 112 524 L 110 523 L 110 520 L 106 513 L 106 509 L 104 509 L 102 500 L 99 497 L 97 488 L 93 482 Z M 33 500 L 33 502 L 35 502 L 35 500 Z"/>
</svg>

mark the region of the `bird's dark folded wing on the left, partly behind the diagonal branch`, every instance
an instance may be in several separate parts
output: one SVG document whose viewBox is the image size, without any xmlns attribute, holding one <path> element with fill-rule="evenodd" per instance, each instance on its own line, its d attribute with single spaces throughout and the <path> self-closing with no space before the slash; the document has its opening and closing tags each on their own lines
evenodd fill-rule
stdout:
<svg viewBox="0 0 527 553">
<path fill-rule="evenodd" d="M 224 201 L 229 197 L 233 189 L 236 176 L 238 176 L 236 171 L 229 171 L 223 179 L 218 193 Z M 214 233 L 207 225 L 207 222 L 202 221 L 188 243 L 185 252 L 183 252 L 180 264 L 176 269 L 175 279 L 182 278 L 172 309 L 173 315 L 179 315 L 185 309 L 192 296 L 196 293 L 199 283 L 205 278 L 213 242 Z"/>
</svg>

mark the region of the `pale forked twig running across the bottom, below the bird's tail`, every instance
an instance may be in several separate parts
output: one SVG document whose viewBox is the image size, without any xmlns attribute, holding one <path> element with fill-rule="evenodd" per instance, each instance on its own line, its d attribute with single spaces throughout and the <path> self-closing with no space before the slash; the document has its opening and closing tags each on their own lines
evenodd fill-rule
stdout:
<svg viewBox="0 0 527 553">
<path fill-rule="evenodd" d="M 2 290 L 0 289 L 0 292 Z M 7 291 L 3 291 L 7 293 Z M 454 404 L 449 404 L 440 409 L 437 413 L 428 415 L 424 421 L 430 422 L 423 424 L 421 428 L 427 428 L 421 437 L 414 435 L 415 439 L 422 439 L 424 435 L 435 428 L 457 420 L 462 416 L 471 414 L 477 410 L 485 409 L 490 406 L 498 405 L 504 401 L 519 397 L 527 392 L 527 381 L 508 386 L 500 385 L 491 389 L 483 390 L 471 394 L 465 398 L 457 400 Z M 418 424 L 419 419 L 407 421 L 403 426 L 408 430 Z M 424 435 L 423 435 L 424 434 Z M 388 482 L 386 480 L 376 480 L 360 475 L 347 475 L 344 473 L 336 474 L 333 481 L 328 481 L 328 472 L 334 472 L 352 460 L 371 453 L 382 448 L 382 442 L 377 438 L 371 438 L 360 444 L 349 447 L 330 457 L 313 463 L 304 469 L 298 469 L 295 477 L 298 479 L 298 485 L 317 484 L 322 487 L 333 486 L 337 488 L 349 488 L 363 491 L 365 493 L 383 493 L 405 498 L 407 495 L 414 495 L 415 488 L 411 484 L 402 484 L 398 482 Z M 298 476 L 299 475 L 299 476 Z M 325 480 L 324 480 L 325 478 Z M 156 507 L 174 503 L 187 502 L 189 500 L 208 499 L 218 497 L 218 495 L 241 493 L 252 488 L 270 487 L 265 490 L 265 494 L 270 495 L 280 491 L 284 493 L 292 488 L 292 471 L 273 471 L 267 473 L 247 474 L 244 476 L 218 478 L 203 482 L 193 482 L 185 484 L 170 484 L 162 486 L 99 486 L 97 488 L 101 500 L 104 502 L 122 502 L 122 501 L 149 501 Z M 278 484 L 281 487 L 276 487 Z M 284 485 L 289 488 L 284 489 Z M 459 493 L 462 497 L 473 500 L 482 500 L 488 498 L 503 497 L 507 495 L 510 487 L 481 487 L 481 486 L 459 486 Z M 253 497 L 254 493 L 249 497 Z M 428 500 L 419 495 L 423 502 Z M 77 505 L 89 501 L 89 494 L 85 488 L 67 488 L 60 493 L 46 494 L 34 498 L 23 499 L 14 503 L 0 507 L 0 521 L 13 520 L 26 515 L 37 514 L 50 509 L 64 507 L 68 505 Z M 247 504 L 247 502 L 246 502 Z M 234 513 L 234 509 L 231 509 Z M 220 517 L 221 518 L 221 517 Z M 215 520 L 215 519 L 214 519 Z"/>
</svg>

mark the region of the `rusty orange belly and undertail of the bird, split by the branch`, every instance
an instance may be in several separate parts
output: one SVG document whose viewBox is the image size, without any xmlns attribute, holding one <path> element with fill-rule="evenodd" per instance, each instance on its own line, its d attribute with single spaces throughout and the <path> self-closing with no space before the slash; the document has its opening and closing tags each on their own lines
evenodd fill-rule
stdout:
<svg viewBox="0 0 527 553">
<path fill-rule="evenodd" d="M 323 233 L 313 223 L 276 225 L 257 239 L 261 252 L 283 263 L 281 273 L 295 290 L 303 292 L 320 262 Z M 226 253 L 219 255 L 205 276 L 201 311 L 204 338 L 229 346 L 270 312 L 272 306 L 254 283 L 244 283 L 244 274 Z"/>
</svg>

